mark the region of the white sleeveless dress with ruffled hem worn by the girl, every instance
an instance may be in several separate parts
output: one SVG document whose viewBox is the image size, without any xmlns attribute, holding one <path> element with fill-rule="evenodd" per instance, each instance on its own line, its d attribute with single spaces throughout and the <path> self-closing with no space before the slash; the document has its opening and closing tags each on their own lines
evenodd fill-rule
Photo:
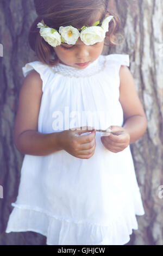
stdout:
<svg viewBox="0 0 163 256">
<path fill-rule="evenodd" d="M 38 131 L 122 126 L 121 65 L 129 66 L 128 54 L 101 55 L 82 70 L 27 63 L 23 75 L 35 69 L 43 81 Z M 102 114 L 97 120 L 87 111 Z M 25 155 L 18 196 L 11 205 L 5 232 L 35 231 L 47 237 L 47 245 L 124 245 L 138 228 L 135 215 L 145 214 L 130 146 L 112 153 L 102 144 L 101 132 L 96 132 L 90 159 L 65 150 Z"/>
</svg>

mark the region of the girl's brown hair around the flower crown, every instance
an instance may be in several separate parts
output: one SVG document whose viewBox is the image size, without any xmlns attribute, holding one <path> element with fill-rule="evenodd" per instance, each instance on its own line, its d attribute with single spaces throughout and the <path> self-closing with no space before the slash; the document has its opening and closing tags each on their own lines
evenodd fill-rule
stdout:
<svg viewBox="0 0 163 256">
<path fill-rule="evenodd" d="M 118 45 L 115 40 L 117 35 L 121 35 L 118 33 L 121 27 L 120 18 L 108 9 L 108 0 L 34 0 L 34 5 L 38 16 L 30 27 L 28 41 L 42 63 L 54 66 L 59 59 L 57 56 L 51 59 L 54 48 L 42 38 L 37 28 L 37 23 L 41 20 L 48 27 L 59 30 L 60 26 L 92 26 L 93 22 L 99 19 L 102 21 L 105 16 L 112 15 L 114 18 L 109 22 L 109 32 L 105 37 L 108 44 L 105 45 Z"/>
</svg>

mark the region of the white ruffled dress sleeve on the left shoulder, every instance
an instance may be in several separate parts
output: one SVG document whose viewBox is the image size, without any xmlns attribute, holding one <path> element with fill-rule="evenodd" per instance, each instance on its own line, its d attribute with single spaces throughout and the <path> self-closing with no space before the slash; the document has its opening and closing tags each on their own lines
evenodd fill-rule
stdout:
<svg viewBox="0 0 163 256">
<path fill-rule="evenodd" d="M 22 67 L 24 77 L 26 77 L 28 73 L 33 69 L 40 74 L 43 92 L 48 80 L 48 68 L 45 64 L 42 64 L 39 61 L 27 63 L 25 66 Z"/>
</svg>

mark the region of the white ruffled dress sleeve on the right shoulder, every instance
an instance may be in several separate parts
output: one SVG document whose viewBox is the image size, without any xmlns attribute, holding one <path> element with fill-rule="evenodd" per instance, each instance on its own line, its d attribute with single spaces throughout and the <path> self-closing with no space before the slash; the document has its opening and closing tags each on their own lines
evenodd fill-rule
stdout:
<svg viewBox="0 0 163 256">
<path fill-rule="evenodd" d="M 114 53 L 114 54 L 105 55 L 103 56 L 103 58 L 105 58 L 106 62 L 110 64 L 119 64 L 119 65 L 126 65 L 126 66 L 130 65 L 129 54 Z"/>
</svg>

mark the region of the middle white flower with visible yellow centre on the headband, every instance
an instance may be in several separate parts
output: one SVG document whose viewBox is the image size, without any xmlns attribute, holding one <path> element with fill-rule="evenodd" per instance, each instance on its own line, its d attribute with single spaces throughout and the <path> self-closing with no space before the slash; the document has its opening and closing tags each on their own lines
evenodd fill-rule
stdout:
<svg viewBox="0 0 163 256">
<path fill-rule="evenodd" d="M 62 40 L 68 45 L 76 44 L 76 41 L 80 36 L 78 29 L 72 26 L 60 27 L 59 33 L 61 34 Z"/>
</svg>

